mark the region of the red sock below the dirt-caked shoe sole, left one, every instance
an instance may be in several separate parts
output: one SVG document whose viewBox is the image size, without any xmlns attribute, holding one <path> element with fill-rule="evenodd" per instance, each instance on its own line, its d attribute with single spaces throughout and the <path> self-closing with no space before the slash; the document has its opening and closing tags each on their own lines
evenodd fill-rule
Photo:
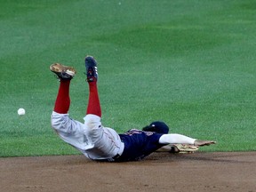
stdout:
<svg viewBox="0 0 256 192">
<path fill-rule="evenodd" d="M 54 111 L 57 113 L 68 113 L 68 109 L 70 106 L 69 84 L 70 80 L 60 80 L 59 92 L 54 106 Z"/>
</svg>

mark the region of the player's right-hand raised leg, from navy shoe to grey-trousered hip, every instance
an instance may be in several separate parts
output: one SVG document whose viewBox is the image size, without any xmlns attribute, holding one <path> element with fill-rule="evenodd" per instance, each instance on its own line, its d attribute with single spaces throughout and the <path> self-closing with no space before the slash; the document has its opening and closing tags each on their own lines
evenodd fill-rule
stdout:
<svg viewBox="0 0 256 192">
<path fill-rule="evenodd" d="M 90 136 L 95 151 L 97 151 L 93 157 L 99 160 L 112 158 L 117 154 L 121 155 L 124 150 L 124 143 L 120 140 L 119 135 L 113 129 L 104 128 L 100 122 L 101 108 L 97 87 L 97 61 L 92 56 L 86 56 L 84 61 L 89 85 L 89 100 L 84 124 L 88 128 L 86 132 Z"/>
</svg>

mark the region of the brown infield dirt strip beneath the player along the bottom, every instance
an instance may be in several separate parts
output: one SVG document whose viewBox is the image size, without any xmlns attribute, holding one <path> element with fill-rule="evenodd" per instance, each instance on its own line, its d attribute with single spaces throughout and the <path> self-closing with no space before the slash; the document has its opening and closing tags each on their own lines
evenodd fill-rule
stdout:
<svg viewBox="0 0 256 192">
<path fill-rule="evenodd" d="M 256 192 L 256 152 L 158 152 L 130 163 L 84 156 L 0 158 L 0 191 Z"/>
</svg>

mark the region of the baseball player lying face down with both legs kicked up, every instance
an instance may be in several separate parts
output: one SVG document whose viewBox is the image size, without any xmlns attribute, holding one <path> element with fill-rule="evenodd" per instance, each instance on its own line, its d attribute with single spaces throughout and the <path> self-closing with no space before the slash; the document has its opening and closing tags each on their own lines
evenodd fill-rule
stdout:
<svg viewBox="0 0 256 192">
<path fill-rule="evenodd" d="M 132 129 L 123 134 L 103 126 L 100 122 L 97 62 L 92 56 L 86 56 L 84 61 L 86 80 L 89 84 L 89 100 L 84 123 L 68 115 L 69 85 L 76 75 L 75 68 L 60 63 L 53 63 L 50 66 L 60 81 L 51 116 L 52 128 L 62 140 L 82 152 L 84 156 L 96 161 L 137 161 L 168 144 L 180 143 L 200 147 L 215 143 L 213 140 L 196 140 L 181 134 L 169 134 L 169 127 L 159 121 L 144 127 L 144 131 Z"/>
</svg>

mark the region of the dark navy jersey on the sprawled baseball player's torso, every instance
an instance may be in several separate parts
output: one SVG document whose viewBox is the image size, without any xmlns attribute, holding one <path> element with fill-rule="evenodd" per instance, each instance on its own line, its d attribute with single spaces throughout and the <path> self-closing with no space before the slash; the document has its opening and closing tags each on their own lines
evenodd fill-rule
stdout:
<svg viewBox="0 0 256 192">
<path fill-rule="evenodd" d="M 124 142 L 124 151 L 115 161 L 138 161 L 143 159 L 165 145 L 159 143 L 162 135 L 163 133 L 144 132 L 137 129 L 119 134 L 121 140 Z"/>
</svg>

